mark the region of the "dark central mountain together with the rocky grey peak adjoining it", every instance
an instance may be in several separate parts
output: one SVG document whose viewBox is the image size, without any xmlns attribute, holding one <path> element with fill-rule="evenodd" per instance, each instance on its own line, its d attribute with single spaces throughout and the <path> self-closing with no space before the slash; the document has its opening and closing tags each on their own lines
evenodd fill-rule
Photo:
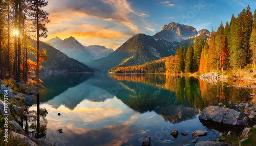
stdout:
<svg viewBox="0 0 256 146">
<path fill-rule="evenodd" d="M 175 55 L 180 45 L 187 48 L 196 38 L 206 40 L 207 36 L 204 34 L 198 36 L 194 27 L 172 22 L 164 25 L 154 36 L 145 34 L 133 36 L 109 56 L 94 61 L 93 66 L 106 71 L 111 68 L 143 64 L 160 57 Z"/>
</svg>

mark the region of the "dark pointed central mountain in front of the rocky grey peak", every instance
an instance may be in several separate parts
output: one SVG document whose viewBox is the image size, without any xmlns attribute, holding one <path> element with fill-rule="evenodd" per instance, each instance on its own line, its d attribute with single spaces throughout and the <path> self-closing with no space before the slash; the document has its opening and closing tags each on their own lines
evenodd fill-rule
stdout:
<svg viewBox="0 0 256 146">
<path fill-rule="evenodd" d="M 106 71 L 113 67 L 139 65 L 170 55 L 172 53 L 151 36 L 137 34 L 123 43 L 109 56 L 93 63 L 97 66 L 97 69 Z"/>
</svg>

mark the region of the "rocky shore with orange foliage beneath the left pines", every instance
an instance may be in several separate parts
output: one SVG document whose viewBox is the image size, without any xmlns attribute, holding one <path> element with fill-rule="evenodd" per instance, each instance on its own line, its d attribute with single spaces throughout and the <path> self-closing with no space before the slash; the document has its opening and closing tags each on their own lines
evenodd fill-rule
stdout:
<svg viewBox="0 0 256 146">
<path fill-rule="evenodd" d="M 34 103 L 33 96 L 44 88 L 42 81 L 36 83 L 34 79 L 35 76 L 30 77 L 27 83 L 24 81 L 16 83 L 12 79 L 0 80 L 0 117 L 6 119 L 8 140 L 14 145 L 16 145 L 14 141 L 31 146 L 56 145 L 47 138 L 37 139 L 23 129 L 24 121 L 28 118 L 37 118 L 35 114 L 29 113 L 28 109 Z M 1 130 L 1 134 L 7 136 L 4 129 Z"/>
</svg>

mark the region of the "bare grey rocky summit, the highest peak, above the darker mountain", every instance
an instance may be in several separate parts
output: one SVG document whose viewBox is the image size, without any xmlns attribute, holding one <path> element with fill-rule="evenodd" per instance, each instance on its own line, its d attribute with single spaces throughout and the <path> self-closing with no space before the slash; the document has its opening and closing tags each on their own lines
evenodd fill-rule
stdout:
<svg viewBox="0 0 256 146">
<path fill-rule="evenodd" d="M 180 23 L 172 22 L 164 25 L 160 32 L 156 33 L 153 38 L 166 40 L 169 42 L 183 41 L 191 36 L 198 35 L 194 27 L 181 25 Z"/>
</svg>

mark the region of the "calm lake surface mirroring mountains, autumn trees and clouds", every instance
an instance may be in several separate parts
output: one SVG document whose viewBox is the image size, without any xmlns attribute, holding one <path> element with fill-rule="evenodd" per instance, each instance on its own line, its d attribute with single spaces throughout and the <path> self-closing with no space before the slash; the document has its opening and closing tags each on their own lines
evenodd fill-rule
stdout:
<svg viewBox="0 0 256 146">
<path fill-rule="evenodd" d="M 43 81 L 47 89 L 40 92 L 40 108 L 48 114 L 40 125 L 58 145 L 141 145 L 139 138 L 147 135 L 152 145 L 195 145 L 195 130 L 208 132 L 199 141 L 241 130 L 200 121 L 205 106 L 246 101 L 252 92 L 222 82 L 211 85 L 194 77 L 165 75 L 61 74 Z M 190 132 L 174 138 L 173 129 Z"/>
</svg>

